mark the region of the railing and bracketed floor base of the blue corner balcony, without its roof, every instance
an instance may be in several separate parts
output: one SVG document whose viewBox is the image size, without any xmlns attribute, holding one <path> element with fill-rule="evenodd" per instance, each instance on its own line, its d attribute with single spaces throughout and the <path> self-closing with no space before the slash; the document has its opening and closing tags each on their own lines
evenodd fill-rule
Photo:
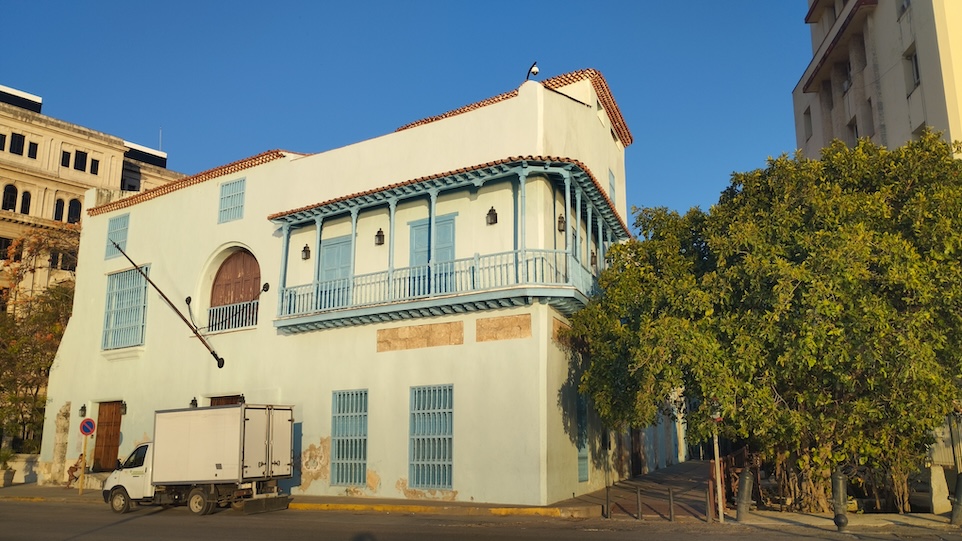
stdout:
<svg viewBox="0 0 962 541">
<path fill-rule="evenodd" d="M 517 250 L 283 288 L 274 326 L 286 333 L 522 306 L 569 315 L 594 273 L 563 250 Z"/>
</svg>

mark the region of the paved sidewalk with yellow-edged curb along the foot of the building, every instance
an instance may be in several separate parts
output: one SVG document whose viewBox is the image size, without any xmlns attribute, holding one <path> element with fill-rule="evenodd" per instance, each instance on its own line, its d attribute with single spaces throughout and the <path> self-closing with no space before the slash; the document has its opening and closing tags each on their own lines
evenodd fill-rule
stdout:
<svg viewBox="0 0 962 541">
<path fill-rule="evenodd" d="M 617 521 L 636 521 L 639 501 L 641 522 L 667 522 L 671 517 L 669 490 L 674 497 L 674 516 L 678 522 L 705 522 L 708 462 L 692 460 L 662 470 L 621 481 L 605 489 L 565 500 L 550 506 L 504 506 L 475 502 L 441 502 L 429 500 L 373 499 L 359 497 L 303 496 L 292 494 L 290 509 L 300 511 L 340 511 L 398 514 L 435 514 L 462 516 L 539 516 L 567 519 L 599 518 L 606 502 L 610 502 L 610 518 Z M 639 500 L 640 490 L 640 500 Z M 0 504 L 7 501 L 89 503 L 107 511 L 101 491 L 67 490 L 36 483 L 17 484 L 0 488 Z M 830 514 L 781 513 L 752 511 L 741 524 L 755 527 L 803 527 L 823 531 L 837 531 Z M 738 524 L 735 510 L 728 509 L 726 523 Z M 884 527 L 913 527 L 960 531 L 949 524 L 948 515 L 912 514 L 848 514 L 848 531 Z"/>
</svg>

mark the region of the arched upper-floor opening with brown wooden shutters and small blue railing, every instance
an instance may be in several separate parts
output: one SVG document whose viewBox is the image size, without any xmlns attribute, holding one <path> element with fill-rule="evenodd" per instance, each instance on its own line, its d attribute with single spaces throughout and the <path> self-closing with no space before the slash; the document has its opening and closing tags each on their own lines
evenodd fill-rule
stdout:
<svg viewBox="0 0 962 541">
<path fill-rule="evenodd" d="M 257 325 L 261 270 L 257 258 L 238 250 L 221 263 L 210 290 L 207 329 L 223 331 Z"/>
</svg>

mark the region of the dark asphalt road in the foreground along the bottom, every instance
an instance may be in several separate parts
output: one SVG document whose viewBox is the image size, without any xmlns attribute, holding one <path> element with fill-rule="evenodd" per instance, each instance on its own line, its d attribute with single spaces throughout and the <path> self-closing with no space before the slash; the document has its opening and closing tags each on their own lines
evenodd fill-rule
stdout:
<svg viewBox="0 0 962 541">
<path fill-rule="evenodd" d="M 184 507 L 137 508 L 118 515 L 106 505 L 0 502 L 2 541 L 229 540 L 587 540 L 626 539 L 845 539 L 962 541 L 962 532 L 897 528 L 839 534 L 814 528 L 774 528 L 696 521 L 565 520 L 527 517 L 461 517 L 350 514 L 286 510 L 241 515 L 222 510 L 195 516 Z"/>
</svg>

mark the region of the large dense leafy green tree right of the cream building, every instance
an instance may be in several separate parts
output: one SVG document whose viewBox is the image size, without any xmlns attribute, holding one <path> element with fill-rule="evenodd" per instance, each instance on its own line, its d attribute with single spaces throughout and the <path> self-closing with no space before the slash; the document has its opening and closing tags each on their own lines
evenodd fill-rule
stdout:
<svg viewBox="0 0 962 541">
<path fill-rule="evenodd" d="M 635 223 L 568 335 L 599 413 L 644 425 L 683 388 L 690 434 L 750 441 L 797 508 L 827 510 L 844 466 L 908 510 L 908 476 L 960 398 L 952 147 L 835 143 L 733 175 L 707 215 Z"/>
</svg>

